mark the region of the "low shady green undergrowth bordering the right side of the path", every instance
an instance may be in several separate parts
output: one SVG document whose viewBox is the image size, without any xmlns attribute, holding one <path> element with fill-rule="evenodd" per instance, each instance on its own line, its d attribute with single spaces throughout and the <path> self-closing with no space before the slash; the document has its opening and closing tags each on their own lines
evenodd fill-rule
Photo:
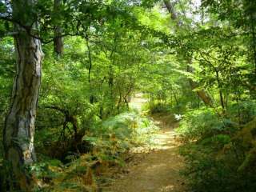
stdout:
<svg viewBox="0 0 256 192">
<path fill-rule="evenodd" d="M 253 143 L 247 139 L 250 148 L 245 148 L 242 136 L 246 138 L 247 132 L 241 131 L 238 123 L 234 122 L 238 120 L 237 114 L 230 111 L 230 119 L 204 108 L 191 110 L 183 116 L 177 131 L 185 138 L 180 153 L 186 160 L 182 174 L 188 178 L 190 191 L 255 191 L 255 163 L 249 165 L 250 169 L 239 169 Z M 249 121 L 254 115 L 254 106 L 243 103 L 241 111 L 242 118 Z"/>
</svg>

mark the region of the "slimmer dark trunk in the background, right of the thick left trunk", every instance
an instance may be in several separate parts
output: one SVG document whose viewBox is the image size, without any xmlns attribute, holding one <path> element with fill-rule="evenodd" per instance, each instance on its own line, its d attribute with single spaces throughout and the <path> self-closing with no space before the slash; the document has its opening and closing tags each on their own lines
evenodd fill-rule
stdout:
<svg viewBox="0 0 256 192">
<path fill-rule="evenodd" d="M 58 10 L 62 6 L 62 0 L 54 0 L 54 12 L 58 14 Z M 62 38 L 62 28 L 61 26 L 55 26 L 54 30 L 54 52 L 58 57 L 63 54 L 63 38 Z"/>
</svg>

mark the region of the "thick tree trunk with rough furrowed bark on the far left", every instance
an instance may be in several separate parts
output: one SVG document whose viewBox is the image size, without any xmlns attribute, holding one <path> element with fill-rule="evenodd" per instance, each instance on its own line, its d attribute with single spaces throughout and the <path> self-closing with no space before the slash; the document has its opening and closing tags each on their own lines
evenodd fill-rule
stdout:
<svg viewBox="0 0 256 192">
<path fill-rule="evenodd" d="M 34 1 L 13 1 L 15 15 L 24 14 L 22 4 L 31 6 Z M 22 15 L 25 17 L 24 15 Z M 23 20 L 25 21 L 25 19 Z M 22 22 L 22 18 L 21 18 Z M 31 26 L 24 23 L 24 26 Z M 34 122 L 38 104 L 38 92 L 42 73 L 41 42 L 27 34 L 27 29 L 16 26 L 18 35 L 14 37 L 16 50 L 16 77 L 10 102 L 10 112 L 6 117 L 3 132 L 5 158 L 10 162 L 11 181 L 9 188 L 30 190 L 30 178 L 26 166 L 35 161 Z"/>
</svg>

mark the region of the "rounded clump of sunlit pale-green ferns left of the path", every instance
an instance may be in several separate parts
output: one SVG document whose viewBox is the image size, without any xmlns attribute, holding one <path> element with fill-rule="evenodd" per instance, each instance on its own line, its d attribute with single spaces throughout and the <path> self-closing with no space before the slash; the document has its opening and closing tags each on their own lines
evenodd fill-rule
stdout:
<svg viewBox="0 0 256 192">
<path fill-rule="evenodd" d="M 115 156 L 129 150 L 131 146 L 150 142 L 152 134 L 158 128 L 149 118 L 127 112 L 108 118 L 91 129 L 90 135 L 83 139 L 102 154 Z"/>
</svg>

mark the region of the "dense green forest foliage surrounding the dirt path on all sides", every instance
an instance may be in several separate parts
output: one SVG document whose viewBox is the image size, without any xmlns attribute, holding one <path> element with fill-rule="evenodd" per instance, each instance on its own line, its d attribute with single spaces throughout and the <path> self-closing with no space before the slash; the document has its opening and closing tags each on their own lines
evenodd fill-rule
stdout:
<svg viewBox="0 0 256 192">
<path fill-rule="evenodd" d="M 130 107 L 143 93 L 149 114 L 180 121 L 190 191 L 254 191 L 255 1 L 26 0 L 19 10 L 17 2 L 0 1 L 0 126 L 22 73 L 17 39 L 27 35 L 44 52 L 37 162 L 24 171 L 33 190 L 97 190 L 102 169 L 122 166 L 157 130 Z M 1 191 L 19 183 L 5 131 Z"/>
</svg>

